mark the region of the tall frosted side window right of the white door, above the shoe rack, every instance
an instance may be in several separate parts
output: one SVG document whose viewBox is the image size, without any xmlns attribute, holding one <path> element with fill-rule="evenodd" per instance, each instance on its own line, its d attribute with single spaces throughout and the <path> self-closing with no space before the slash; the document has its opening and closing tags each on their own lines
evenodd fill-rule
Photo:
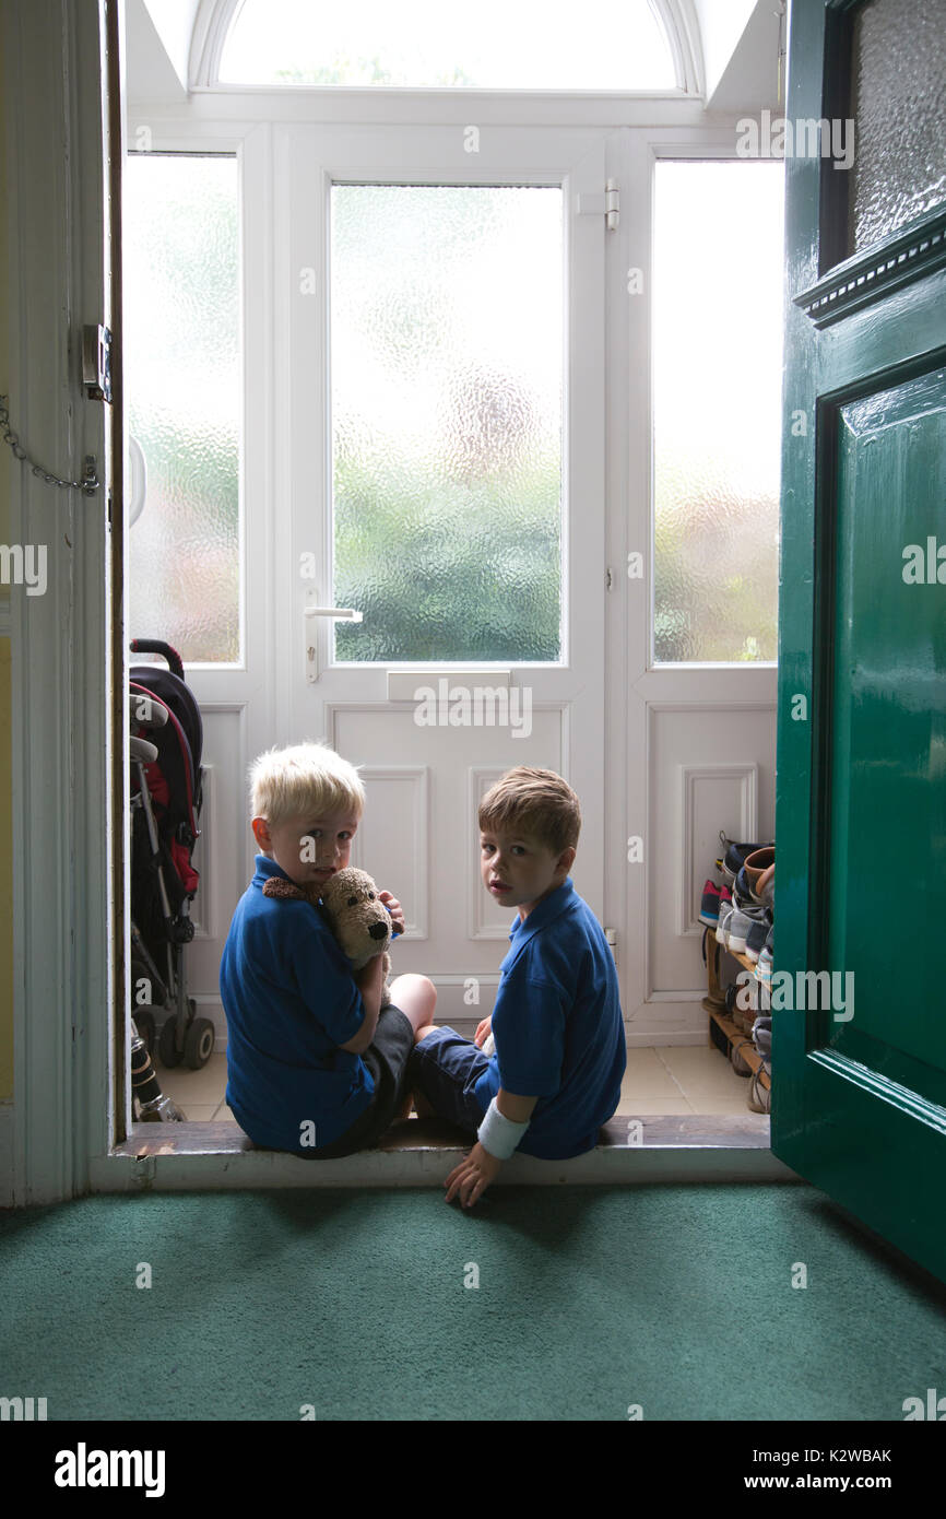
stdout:
<svg viewBox="0 0 946 1519">
<path fill-rule="evenodd" d="M 777 655 L 782 202 L 777 159 L 656 166 L 657 664 Z"/>
</svg>

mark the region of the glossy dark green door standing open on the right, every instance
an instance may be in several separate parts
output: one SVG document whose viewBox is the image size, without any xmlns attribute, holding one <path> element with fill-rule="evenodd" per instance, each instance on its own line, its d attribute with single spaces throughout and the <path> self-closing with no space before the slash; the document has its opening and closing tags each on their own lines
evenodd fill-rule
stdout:
<svg viewBox="0 0 946 1519">
<path fill-rule="evenodd" d="M 771 1136 L 946 1281 L 940 20 L 791 8 Z"/>
</svg>

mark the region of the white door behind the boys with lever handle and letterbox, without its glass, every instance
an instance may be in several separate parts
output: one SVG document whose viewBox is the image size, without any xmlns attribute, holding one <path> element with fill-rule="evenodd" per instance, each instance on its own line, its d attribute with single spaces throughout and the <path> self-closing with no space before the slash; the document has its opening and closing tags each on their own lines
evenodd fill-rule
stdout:
<svg viewBox="0 0 946 1519">
<path fill-rule="evenodd" d="M 469 143 L 457 128 L 273 126 L 275 729 L 284 743 L 323 740 L 363 767 L 367 808 L 352 863 L 404 905 L 395 974 L 430 975 L 437 1018 L 454 1024 L 490 1010 L 507 948 L 512 913 L 486 898 L 477 832 L 477 801 L 504 770 L 553 769 L 575 788 L 583 828 L 572 876 L 604 911 L 606 134 L 492 129 L 477 152 Z M 559 662 L 527 662 L 527 649 L 487 664 L 431 662 L 396 658 L 396 646 L 378 662 L 343 662 L 334 650 L 343 624 L 307 615 L 336 597 L 331 398 L 342 357 L 330 313 L 343 270 L 331 267 L 331 196 L 358 182 L 560 190 Z M 402 568 L 410 577 L 408 551 Z M 437 702 L 419 706 L 424 688 Z"/>
</svg>

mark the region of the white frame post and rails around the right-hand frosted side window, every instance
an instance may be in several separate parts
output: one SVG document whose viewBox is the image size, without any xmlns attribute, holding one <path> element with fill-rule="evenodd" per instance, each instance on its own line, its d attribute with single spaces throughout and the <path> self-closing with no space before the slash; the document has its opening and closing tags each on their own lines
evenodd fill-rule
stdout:
<svg viewBox="0 0 946 1519">
<path fill-rule="evenodd" d="M 680 112 L 679 125 L 626 126 L 609 138 L 607 175 L 621 185 L 618 237 L 609 246 L 607 305 L 607 567 L 613 591 L 607 595 L 607 732 L 606 732 L 606 838 L 604 901 L 607 924 L 618 927 L 618 980 L 621 1007 L 635 1044 L 692 1042 L 686 1028 L 654 1033 L 659 1019 L 705 1025 L 698 989 L 654 990 L 651 968 L 651 914 L 654 848 L 657 840 L 659 776 L 651 766 L 651 738 L 659 712 L 706 711 L 711 718 L 730 712 L 774 712 L 777 667 L 770 665 L 653 665 L 653 395 L 651 296 L 653 290 L 653 175 L 659 158 L 735 158 L 738 118 L 714 115 L 694 125 Z M 642 275 L 641 295 L 630 293 L 629 270 Z M 627 319 L 621 321 L 620 313 Z M 635 358 L 636 355 L 636 358 Z M 627 554 L 644 554 L 644 579 L 629 582 Z M 773 766 L 774 779 L 774 766 Z M 755 819 L 753 819 L 755 822 Z M 623 843 L 644 840 L 644 864 L 630 864 Z M 677 873 L 682 876 L 685 840 L 677 838 Z M 709 861 L 705 863 L 709 869 Z M 682 881 L 682 886 L 685 883 Z M 644 1031 L 636 1036 L 633 1024 Z"/>
</svg>

